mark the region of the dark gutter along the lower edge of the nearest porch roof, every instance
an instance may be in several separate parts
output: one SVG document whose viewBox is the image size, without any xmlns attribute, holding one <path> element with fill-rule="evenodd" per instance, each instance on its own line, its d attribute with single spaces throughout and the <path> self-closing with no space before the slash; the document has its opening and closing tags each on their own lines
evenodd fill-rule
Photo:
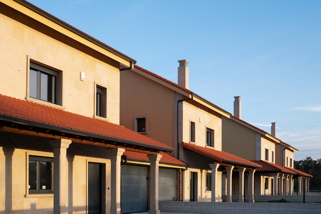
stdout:
<svg viewBox="0 0 321 214">
<path fill-rule="evenodd" d="M 46 128 L 46 129 L 53 130 L 53 131 L 65 132 L 65 133 L 70 133 L 70 134 L 77 134 L 77 135 L 81 135 L 84 137 L 98 138 L 98 139 L 103 139 L 103 140 L 107 140 L 107 141 L 116 141 L 119 143 L 128 143 L 128 144 L 132 144 L 132 145 L 136 145 L 136 146 L 142 146 L 142 147 L 152 148 L 152 149 L 157 149 L 157 150 L 162 150 L 162 151 L 169 151 L 169 152 L 174 151 L 174 149 L 172 149 L 172 148 L 166 148 L 166 147 L 160 147 L 160 146 L 155 146 L 155 145 L 150 145 L 150 144 L 145 144 L 145 143 L 139 143 L 136 141 L 130 141 L 130 140 L 125 140 L 125 139 L 115 138 L 115 137 L 109 137 L 107 135 L 95 134 L 95 133 L 91 133 L 91 132 L 80 131 L 80 130 L 75 130 L 75 129 L 71 129 L 71 128 L 61 127 L 61 126 L 55 126 L 55 125 L 50 125 L 50 124 L 36 122 L 36 121 L 29 121 L 26 119 L 15 118 L 13 116 L 8 116 L 8 115 L 4 115 L 4 114 L 0 115 L 0 119 L 2 119 L 3 121 L 7 121 L 7 122 L 13 122 L 13 123 L 18 123 L 18 124 L 22 124 L 22 125 L 33 126 L 33 127 L 37 127 L 37 128 Z"/>
</svg>

